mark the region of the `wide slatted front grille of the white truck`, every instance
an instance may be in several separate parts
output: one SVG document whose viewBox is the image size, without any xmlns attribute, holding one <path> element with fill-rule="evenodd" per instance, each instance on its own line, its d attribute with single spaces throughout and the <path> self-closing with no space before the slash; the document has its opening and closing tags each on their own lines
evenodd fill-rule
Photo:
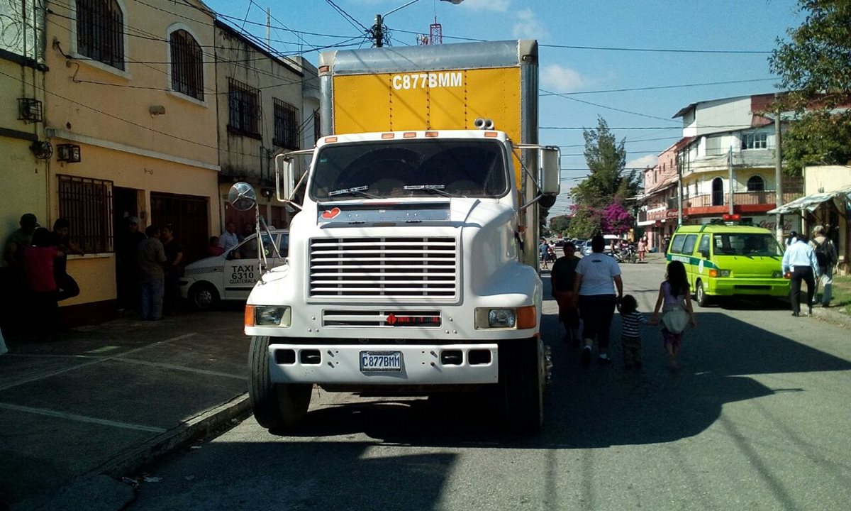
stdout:
<svg viewBox="0 0 851 511">
<path fill-rule="evenodd" d="M 311 296 L 457 296 L 455 238 L 313 238 Z"/>
</svg>

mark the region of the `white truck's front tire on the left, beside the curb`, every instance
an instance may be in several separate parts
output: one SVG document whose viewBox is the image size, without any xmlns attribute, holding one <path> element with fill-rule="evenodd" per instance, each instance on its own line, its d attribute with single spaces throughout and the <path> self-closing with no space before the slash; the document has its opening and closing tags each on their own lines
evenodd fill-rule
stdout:
<svg viewBox="0 0 851 511">
<path fill-rule="evenodd" d="M 254 419 L 269 430 L 296 428 L 311 404 L 310 383 L 272 383 L 268 336 L 254 336 L 248 348 L 248 399 Z"/>
</svg>

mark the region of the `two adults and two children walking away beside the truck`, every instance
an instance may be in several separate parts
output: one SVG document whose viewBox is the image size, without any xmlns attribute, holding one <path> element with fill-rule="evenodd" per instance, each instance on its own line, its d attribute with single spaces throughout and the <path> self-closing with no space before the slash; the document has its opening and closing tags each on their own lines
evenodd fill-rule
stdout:
<svg viewBox="0 0 851 511">
<path fill-rule="evenodd" d="M 591 254 L 581 259 L 576 257 L 573 243 L 566 242 L 563 250 L 563 257 L 557 259 L 551 271 L 552 296 L 558 303 L 559 322 L 566 330 L 564 340 L 580 347 L 582 364 L 591 363 L 595 342 L 597 363 L 612 363 L 608 347 L 612 319 L 617 309 L 621 317 L 621 353 L 625 369 L 642 367 L 640 325 L 661 323 L 668 366 L 676 371 L 683 331 L 688 324 L 697 326 L 683 263 L 671 261 L 668 264 L 654 313 L 647 321 L 637 310 L 635 297 L 623 294 L 620 266 L 613 257 L 603 253 L 603 236 L 591 238 Z"/>
</svg>

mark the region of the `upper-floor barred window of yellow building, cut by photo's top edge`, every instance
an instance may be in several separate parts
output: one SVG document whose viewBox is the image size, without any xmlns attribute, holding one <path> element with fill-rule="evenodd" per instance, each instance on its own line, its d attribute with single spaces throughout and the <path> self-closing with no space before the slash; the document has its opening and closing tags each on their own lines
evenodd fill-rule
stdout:
<svg viewBox="0 0 851 511">
<path fill-rule="evenodd" d="M 116 0 L 77 0 L 77 53 L 124 70 L 124 13 Z"/>
</svg>

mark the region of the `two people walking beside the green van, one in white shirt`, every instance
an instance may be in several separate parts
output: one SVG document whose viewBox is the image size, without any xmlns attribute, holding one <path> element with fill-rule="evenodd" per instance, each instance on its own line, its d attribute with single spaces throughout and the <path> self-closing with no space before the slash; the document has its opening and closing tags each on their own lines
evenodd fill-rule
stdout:
<svg viewBox="0 0 851 511">
<path fill-rule="evenodd" d="M 833 271 L 838 256 L 836 245 L 827 236 L 828 229 L 815 226 L 813 236 L 809 239 L 805 234 L 794 231 L 787 240 L 783 253 L 783 274 L 790 278 L 792 316 L 801 316 L 801 284 L 807 284 L 807 310 L 813 314 L 815 298 L 821 307 L 830 307 L 833 292 Z"/>
</svg>

